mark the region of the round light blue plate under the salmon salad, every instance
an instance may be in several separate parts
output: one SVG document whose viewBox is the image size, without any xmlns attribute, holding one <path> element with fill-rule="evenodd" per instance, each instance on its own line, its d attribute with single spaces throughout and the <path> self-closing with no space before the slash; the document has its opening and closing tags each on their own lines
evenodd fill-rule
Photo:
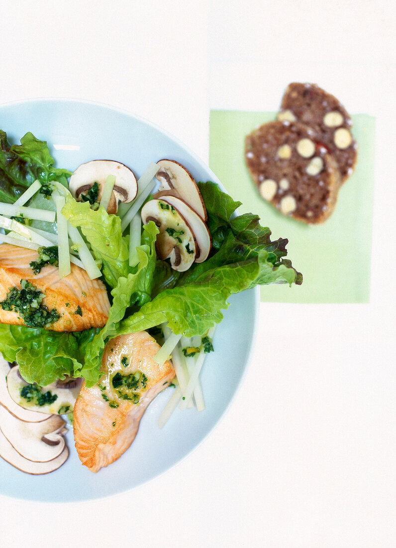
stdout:
<svg viewBox="0 0 396 548">
<path fill-rule="evenodd" d="M 185 165 L 197 181 L 219 184 L 211 170 L 171 135 L 109 106 L 69 99 L 14 102 L 0 106 L 0 129 L 11 143 L 19 144 L 27 132 L 48 141 L 56 167 L 74 170 L 83 162 L 106 158 L 129 165 L 139 177 L 151 162 L 171 158 Z M 112 465 L 96 474 L 82 466 L 69 431 L 69 458 L 55 472 L 31 476 L 0 459 L 0 493 L 40 501 L 96 499 L 132 489 L 183 459 L 222 418 L 246 373 L 259 291 L 233 295 L 230 303 L 214 335 L 215 352 L 208 355 L 201 373 L 205 410 L 177 409 L 160 430 L 158 417 L 172 395 L 167 389 L 148 407 L 132 446 Z"/>
</svg>

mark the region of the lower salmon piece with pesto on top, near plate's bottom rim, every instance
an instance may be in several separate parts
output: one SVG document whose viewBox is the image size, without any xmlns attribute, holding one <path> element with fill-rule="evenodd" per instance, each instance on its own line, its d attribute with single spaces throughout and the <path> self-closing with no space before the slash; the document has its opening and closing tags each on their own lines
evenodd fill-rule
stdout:
<svg viewBox="0 0 396 548">
<path fill-rule="evenodd" d="M 74 405 L 74 441 L 81 463 L 92 472 L 130 447 L 148 404 L 174 378 L 170 362 L 159 366 L 154 361 L 159 349 L 146 331 L 120 335 L 104 349 L 99 383 L 81 387 Z"/>
</svg>

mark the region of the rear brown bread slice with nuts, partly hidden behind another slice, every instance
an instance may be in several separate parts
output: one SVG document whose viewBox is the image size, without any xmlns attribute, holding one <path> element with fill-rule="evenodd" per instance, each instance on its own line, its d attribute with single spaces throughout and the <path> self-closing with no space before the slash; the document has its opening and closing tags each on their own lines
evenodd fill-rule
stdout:
<svg viewBox="0 0 396 548">
<path fill-rule="evenodd" d="M 352 175 L 357 159 L 357 143 L 351 133 L 352 119 L 333 95 L 316 84 L 289 84 L 278 120 L 310 126 L 316 140 L 322 142 L 339 164 L 342 182 Z"/>
</svg>

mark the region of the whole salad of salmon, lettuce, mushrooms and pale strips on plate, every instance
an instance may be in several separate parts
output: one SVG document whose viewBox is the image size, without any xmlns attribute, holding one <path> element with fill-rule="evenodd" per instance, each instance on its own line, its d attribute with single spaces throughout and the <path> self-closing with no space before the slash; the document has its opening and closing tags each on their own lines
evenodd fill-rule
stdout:
<svg viewBox="0 0 396 548">
<path fill-rule="evenodd" d="M 161 428 L 176 408 L 205 409 L 200 373 L 230 296 L 302 282 L 287 239 L 272 241 L 239 205 L 177 159 L 139 177 L 114 159 L 69 172 L 32 133 L 10 144 L 0 131 L 4 460 L 56 470 L 72 427 L 97 472 L 130 447 L 163 390 Z"/>
</svg>

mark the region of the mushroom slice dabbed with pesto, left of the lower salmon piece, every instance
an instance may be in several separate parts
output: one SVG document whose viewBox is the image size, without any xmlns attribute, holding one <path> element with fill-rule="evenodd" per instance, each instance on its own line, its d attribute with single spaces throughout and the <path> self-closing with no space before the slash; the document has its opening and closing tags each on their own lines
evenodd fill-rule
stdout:
<svg viewBox="0 0 396 548">
<path fill-rule="evenodd" d="M 52 396 L 56 396 L 53 403 L 39 406 L 34 400 L 28 402 L 26 398 L 21 396 L 21 390 L 24 386 L 28 386 L 28 383 L 22 379 L 18 366 L 10 369 L 7 375 L 7 388 L 11 399 L 24 409 L 39 413 L 65 414 L 73 411 L 75 400 L 79 395 L 81 384 L 83 384 L 83 379 L 68 379 L 68 383 L 62 383 L 63 381 L 56 381 L 48 386 L 38 386 L 37 388 L 43 394 L 50 392 Z"/>
</svg>

